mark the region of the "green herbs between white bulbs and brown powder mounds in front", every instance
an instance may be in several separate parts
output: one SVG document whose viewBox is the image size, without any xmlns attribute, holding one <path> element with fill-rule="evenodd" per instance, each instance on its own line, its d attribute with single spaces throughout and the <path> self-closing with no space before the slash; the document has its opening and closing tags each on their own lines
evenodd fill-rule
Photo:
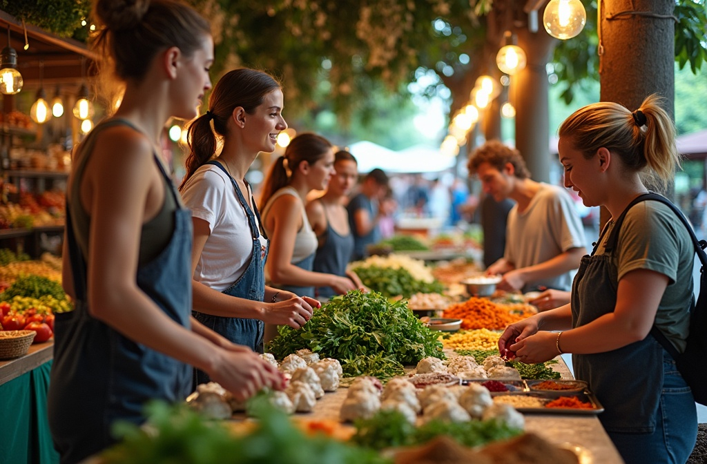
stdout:
<svg viewBox="0 0 707 464">
<path fill-rule="evenodd" d="M 375 416 L 356 422 L 351 441 L 367 448 L 381 450 L 391 446 L 412 446 L 431 441 L 436 436 L 450 436 L 464 446 L 481 446 L 522 434 L 496 420 L 442 422 L 433 420 L 416 428 L 398 411 L 380 411 Z"/>
</svg>

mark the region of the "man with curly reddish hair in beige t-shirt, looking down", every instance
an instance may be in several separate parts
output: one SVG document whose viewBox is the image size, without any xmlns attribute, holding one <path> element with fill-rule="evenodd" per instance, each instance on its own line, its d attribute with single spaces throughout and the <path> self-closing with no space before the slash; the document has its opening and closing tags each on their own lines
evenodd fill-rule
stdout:
<svg viewBox="0 0 707 464">
<path fill-rule="evenodd" d="M 486 195 L 496 202 L 515 201 L 508 213 L 504 255 L 486 269 L 503 275 L 498 289 L 568 291 L 572 271 L 586 254 L 584 228 L 568 192 L 530 179 L 520 152 L 498 140 L 475 150 L 468 168 Z"/>
</svg>

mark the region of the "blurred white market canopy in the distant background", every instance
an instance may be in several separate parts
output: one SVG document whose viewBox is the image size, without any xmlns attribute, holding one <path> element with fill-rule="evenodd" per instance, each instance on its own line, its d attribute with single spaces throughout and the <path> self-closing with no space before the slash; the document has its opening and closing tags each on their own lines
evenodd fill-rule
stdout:
<svg viewBox="0 0 707 464">
<path fill-rule="evenodd" d="M 356 157 L 358 172 L 380 168 L 386 173 L 438 173 L 453 168 L 456 157 L 445 156 L 439 148 L 416 145 L 393 151 L 371 141 L 358 141 L 349 146 Z"/>
</svg>

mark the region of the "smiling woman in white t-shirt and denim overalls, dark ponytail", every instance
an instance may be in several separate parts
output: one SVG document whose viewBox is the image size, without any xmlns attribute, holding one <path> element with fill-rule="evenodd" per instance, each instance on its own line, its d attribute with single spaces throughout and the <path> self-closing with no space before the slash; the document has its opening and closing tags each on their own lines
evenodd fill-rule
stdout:
<svg viewBox="0 0 707 464">
<path fill-rule="evenodd" d="M 194 226 L 194 317 L 258 352 L 264 322 L 299 328 L 319 306 L 313 298 L 265 286 L 269 243 L 245 180 L 257 154 L 274 151 L 287 128 L 282 108 L 282 90 L 269 74 L 235 69 L 224 75 L 209 110 L 189 127 L 191 153 L 180 186 Z M 209 381 L 204 372 L 195 376 L 197 383 Z"/>
</svg>

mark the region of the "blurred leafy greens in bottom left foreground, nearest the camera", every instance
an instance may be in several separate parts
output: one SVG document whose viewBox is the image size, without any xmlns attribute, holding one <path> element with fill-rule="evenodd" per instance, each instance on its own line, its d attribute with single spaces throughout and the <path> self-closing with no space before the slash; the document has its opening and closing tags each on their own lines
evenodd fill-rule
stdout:
<svg viewBox="0 0 707 464">
<path fill-rule="evenodd" d="M 147 407 L 149 430 L 134 424 L 115 426 L 122 442 L 109 448 L 101 462 L 133 464 L 355 464 L 386 463 L 372 451 L 323 435 L 307 436 L 286 414 L 255 409 L 259 421 L 250 434 L 235 436 L 223 422 L 212 422 L 186 405 L 153 402 Z M 284 458 L 286 457 L 286 460 Z"/>
</svg>

